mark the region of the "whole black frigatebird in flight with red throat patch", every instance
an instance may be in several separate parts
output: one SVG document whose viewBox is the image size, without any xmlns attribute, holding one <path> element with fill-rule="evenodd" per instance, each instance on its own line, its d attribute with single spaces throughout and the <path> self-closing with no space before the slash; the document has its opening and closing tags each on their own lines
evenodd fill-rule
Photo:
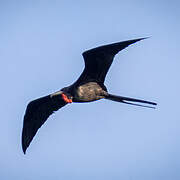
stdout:
<svg viewBox="0 0 180 180">
<path fill-rule="evenodd" d="M 136 106 L 154 108 L 153 106 L 132 103 L 138 102 L 156 105 L 154 102 L 109 94 L 104 85 L 106 74 L 113 62 L 114 56 L 130 44 L 143 39 L 145 38 L 113 43 L 85 51 L 82 54 L 85 68 L 75 83 L 48 96 L 31 101 L 24 115 L 22 131 L 23 152 L 26 153 L 26 149 L 36 132 L 48 117 L 68 103 L 92 102 L 104 98 Z"/>
</svg>

